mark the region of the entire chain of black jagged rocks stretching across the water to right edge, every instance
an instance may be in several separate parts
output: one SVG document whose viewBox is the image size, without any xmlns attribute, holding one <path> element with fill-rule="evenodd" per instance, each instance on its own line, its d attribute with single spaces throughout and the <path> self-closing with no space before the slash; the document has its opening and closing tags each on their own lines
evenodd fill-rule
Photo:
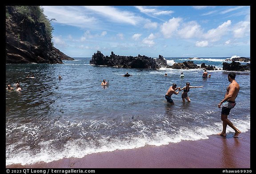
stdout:
<svg viewBox="0 0 256 174">
<path fill-rule="evenodd" d="M 111 52 L 110 56 L 104 56 L 99 50 L 92 55 L 90 65 L 97 66 L 112 66 L 122 68 L 147 68 L 147 69 L 160 69 L 160 68 L 172 68 L 172 69 L 206 69 L 206 70 L 221 70 L 215 66 L 202 63 L 201 66 L 197 66 L 193 61 L 184 61 L 183 63 L 174 63 L 172 66 L 167 64 L 166 59 L 159 55 L 159 58 L 149 58 L 147 56 L 136 57 L 133 56 L 120 56 Z M 232 63 L 223 62 L 223 70 L 236 70 L 244 71 L 250 70 L 250 63 L 241 65 L 239 62 L 232 61 Z"/>
</svg>

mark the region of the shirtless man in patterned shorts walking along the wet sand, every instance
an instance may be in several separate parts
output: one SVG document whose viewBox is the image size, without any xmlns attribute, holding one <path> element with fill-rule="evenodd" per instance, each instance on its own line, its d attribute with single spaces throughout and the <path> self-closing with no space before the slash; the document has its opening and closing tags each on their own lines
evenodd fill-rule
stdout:
<svg viewBox="0 0 256 174">
<path fill-rule="evenodd" d="M 236 97 L 238 95 L 238 92 L 240 90 L 240 85 L 236 82 L 236 73 L 228 73 L 228 81 L 230 84 L 227 87 L 227 91 L 225 93 L 225 97 L 220 103 L 218 104 L 218 108 L 221 108 L 221 120 L 223 121 L 223 129 L 222 132 L 218 133 L 218 135 L 226 136 L 226 129 L 227 125 L 230 126 L 232 129 L 234 129 L 235 134 L 234 138 L 237 138 L 237 136 L 241 133 L 240 130 L 238 130 L 230 120 L 228 120 L 228 115 L 230 113 L 230 110 L 236 106 Z"/>
</svg>

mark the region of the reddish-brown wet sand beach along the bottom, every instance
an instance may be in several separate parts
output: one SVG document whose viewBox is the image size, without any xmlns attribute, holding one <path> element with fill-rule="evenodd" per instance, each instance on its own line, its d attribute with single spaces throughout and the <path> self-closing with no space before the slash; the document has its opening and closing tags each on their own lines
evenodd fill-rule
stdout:
<svg viewBox="0 0 256 174">
<path fill-rule="evenodd" d="M 32 165 L 6 168 L 251 168 L 250 130 L 239 138 L 211 135 L 209 139 L 184 140 L 162 146 L 116 150 Z"/>
</svg>

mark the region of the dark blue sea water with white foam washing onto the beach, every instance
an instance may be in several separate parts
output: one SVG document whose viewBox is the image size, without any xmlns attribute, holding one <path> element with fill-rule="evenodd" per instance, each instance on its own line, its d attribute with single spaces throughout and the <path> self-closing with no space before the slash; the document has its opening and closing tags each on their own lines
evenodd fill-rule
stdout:
<svg viewBox="0 0 256 174">
<path fill-rule="evenodd" d="M 222 131 L 217 105 L 229 85 L 229 71 L 222 70 L 226 57 L 191 59 L 221 69 L 208 70 L 212 77 L 207 79 L 203 69 L 116 68 L 90 65 L 90 59 L 6 65 L 6 85 L 19 80 L 22 88 L 6 90 L 6 165 L 208 139 Z M 190 60 L 166 59 L 169 65 Z M 126 72 L 132 76 L 123 77 Z M 100 85 L 103 79 L 108 87 Z M 250 71 L 236 72 L 236 81 L 240 92 L 228 118 L 245 132 L 250 129 Z M 182 88 L 187 82 L 204 87 L 190 89 L 190 103 L 182 102 L 180 92 L 172 95 L 175 105 L 168 104 L 164 96 L 172 83 Z M 227 133 L 234 132 L 228 127 Z"/>
</svg>

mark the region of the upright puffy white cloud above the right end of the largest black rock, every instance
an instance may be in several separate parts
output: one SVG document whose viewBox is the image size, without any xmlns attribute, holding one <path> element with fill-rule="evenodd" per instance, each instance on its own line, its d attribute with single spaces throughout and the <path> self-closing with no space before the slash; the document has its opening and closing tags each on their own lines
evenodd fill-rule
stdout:
<svg viewBox="0 0 256 174">
<path fill-rule="evenodd" d="M 163 23 L 160 27 L 160 31 L 164 35 L 164 38 L 172 37 L 173 33 L 177 31 L 178 27 L 180 26 L 181 21 L 181 18 L 173 17 L 172 19 L 169 19 L 168 22 Z"/>
</svg>

